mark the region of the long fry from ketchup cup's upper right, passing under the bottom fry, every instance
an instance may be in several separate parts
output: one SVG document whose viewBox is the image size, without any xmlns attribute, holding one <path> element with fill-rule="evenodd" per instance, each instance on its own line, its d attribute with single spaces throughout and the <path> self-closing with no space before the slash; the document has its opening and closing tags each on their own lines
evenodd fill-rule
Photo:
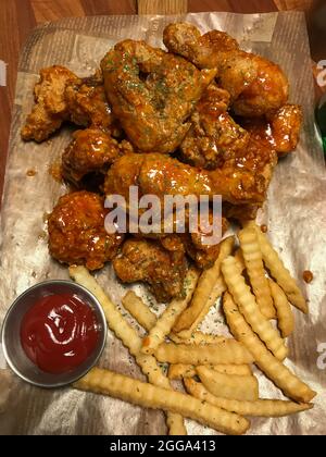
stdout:
<svg viewBox="0 0 326 457">
<path fill-rule="evenodd" d="M 172 390 L 168 379 L 162 373 L 155 358 L 140 353 L 141 338 L 124 320 L 116 306 L 105 295 L 88 270 L 85 267 L 70 267 L 70 275 L 97 297 L 103 308 L 108 325 L 136 358 L 136 362 L 148 376 L 148 380 L 154 385 Z M 175 415 L 171 417 L 171 413 L 168 413 L 166 422 L 171 427 L 170 434 L 187 434 L 181 417 Z"/>
</svg>

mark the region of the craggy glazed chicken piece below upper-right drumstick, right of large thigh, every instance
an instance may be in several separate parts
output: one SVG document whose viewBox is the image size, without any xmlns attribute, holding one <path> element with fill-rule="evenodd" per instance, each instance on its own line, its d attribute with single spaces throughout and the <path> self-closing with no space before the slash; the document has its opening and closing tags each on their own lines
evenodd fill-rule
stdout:
<svg viewBox="0 0 326 457">
<path fill-rule="evenodd" d="M 246 148 L 249 134 L 227 112 L 229 94 L 211 84 L 191 115 L 191 127 L 180 146 L 181 160 L 214 170 Z"/>
</svg>

